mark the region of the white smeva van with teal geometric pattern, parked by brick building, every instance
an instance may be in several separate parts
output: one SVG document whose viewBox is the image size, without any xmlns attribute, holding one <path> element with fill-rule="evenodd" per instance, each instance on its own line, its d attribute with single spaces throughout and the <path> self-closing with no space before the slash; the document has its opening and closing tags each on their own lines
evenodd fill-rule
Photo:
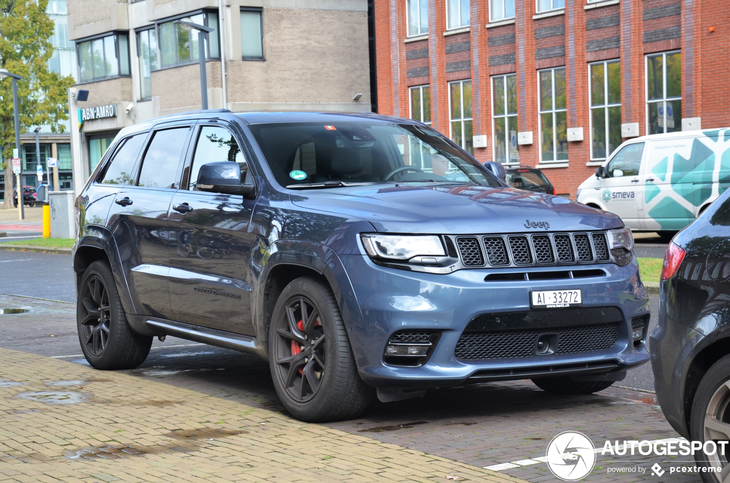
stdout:
<svg viewBox="0 0 730 483">
<path fill-rule="evenodd" d="M 634 231 L 671 236 L 730 186 L 730 128 L 630 139 L 578 188 Z"/>
</svg>

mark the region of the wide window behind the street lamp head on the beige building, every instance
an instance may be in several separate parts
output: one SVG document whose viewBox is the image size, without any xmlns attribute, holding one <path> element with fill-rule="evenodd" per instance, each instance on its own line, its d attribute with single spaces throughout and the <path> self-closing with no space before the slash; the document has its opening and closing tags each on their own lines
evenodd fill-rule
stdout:
<svg viewBox="0 0 730 483">
<path fill-rule="evenodd" d="M 213 29 L 207 36 L 205 52 L 207 58 L 220 58 L 218 49 L 218 14 L 215 12 L 199 12 L 196 15 L 185 15 L 193 23 Z M 198 31 L 194 28 L 185 30 L 174 20 L 159 24 L 160 63 L 162 67 L 177 66 L 185 63 L 199 62 Z"/>
</svg>

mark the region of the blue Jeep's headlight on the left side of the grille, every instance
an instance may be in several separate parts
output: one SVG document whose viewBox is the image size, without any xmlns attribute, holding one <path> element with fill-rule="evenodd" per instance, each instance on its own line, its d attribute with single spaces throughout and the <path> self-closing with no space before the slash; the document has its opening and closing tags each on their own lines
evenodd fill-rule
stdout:
<svg viewBox="0 0 730 483">
<path fill-rule="evenodd" d="M 361 235 L 368 255 L 376 258 L 409 260 L 416 255 L 443 257 L 441 239 L 436 235 Z"/>
</svg>

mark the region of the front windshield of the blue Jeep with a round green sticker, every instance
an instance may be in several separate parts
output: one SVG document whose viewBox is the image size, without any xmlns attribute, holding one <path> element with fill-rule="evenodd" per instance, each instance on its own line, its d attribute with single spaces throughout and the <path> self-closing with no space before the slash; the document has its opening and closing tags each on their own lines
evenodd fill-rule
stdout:
<svg viewBox="0 0 730 483">
<path fill-rule="evenodd" d="M 280 185 L 499 182 L 447 140 L 418 125 L 347 121 L 249 125 Z"/>
</svg>

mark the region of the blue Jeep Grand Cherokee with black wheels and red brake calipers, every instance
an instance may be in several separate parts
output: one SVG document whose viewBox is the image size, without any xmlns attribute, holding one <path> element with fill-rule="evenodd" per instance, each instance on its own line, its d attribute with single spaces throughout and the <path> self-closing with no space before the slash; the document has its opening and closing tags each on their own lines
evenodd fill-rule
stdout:
<svg viewBox="0 0 730 483">
<path fill-rule="evenodd" d="M 307 421 L 429 387 L 623 379 L 649 357 L 631 231 L 489 166 L 380 115 L 124 128 L 77 198 L 85 357 L 133 368 L 166 335 L 252 352 Z"/>
</svg>

